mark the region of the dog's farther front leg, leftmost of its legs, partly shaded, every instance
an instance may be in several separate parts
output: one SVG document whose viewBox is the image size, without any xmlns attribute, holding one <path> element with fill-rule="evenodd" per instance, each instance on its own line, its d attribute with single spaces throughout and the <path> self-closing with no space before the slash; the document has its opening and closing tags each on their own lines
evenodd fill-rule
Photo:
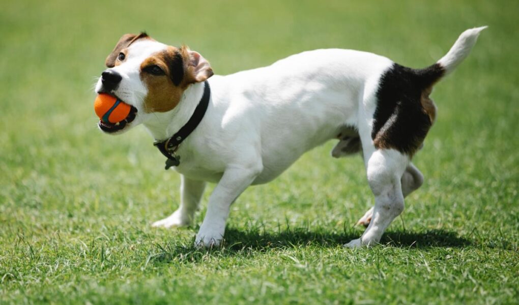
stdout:
<svg viewBox="0 0 519 305">
<path fill-rule="evenodd" d="M 169 217 L 155 221 L 152 226 L 170 228 L 190 225 L 205 188 L 205 182 L 195 181 L 181 175 L 179 209 Z"/>
</svg>

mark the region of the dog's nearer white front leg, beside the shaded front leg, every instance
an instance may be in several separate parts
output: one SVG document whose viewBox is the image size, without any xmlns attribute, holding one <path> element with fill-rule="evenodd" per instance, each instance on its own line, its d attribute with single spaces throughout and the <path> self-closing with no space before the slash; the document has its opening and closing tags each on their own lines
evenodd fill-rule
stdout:
<svg viewBox="0 0 519 305">
<path fill-rule="evenodd" d="M 217 246 L 223 239 L 230 205 L 261 172 L 261 166 L 227 168 L 209 198 L 206 217 L 196 235 L 196 246 Z"/>
</svg>

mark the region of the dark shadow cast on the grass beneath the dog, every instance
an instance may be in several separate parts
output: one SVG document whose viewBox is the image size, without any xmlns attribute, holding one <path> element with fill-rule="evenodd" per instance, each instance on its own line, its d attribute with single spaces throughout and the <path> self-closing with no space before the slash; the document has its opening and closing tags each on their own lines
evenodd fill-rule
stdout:
<svg viewBox="0 0 519 305">
<path fill-rule="evenodd" d="M 333 233 L 324 229 L 310 231 L 306 228 L 286 228 L 278 232 L 266 232 L 257 228 L 249 231 L 227 228 L 222 247 L 198 249 L 194 240 L 166 245 L 156 244 L 157 253 L 148 256 L 149 262 L 185 261 L 195 262 L 210 257 L 254 256 L 258 253 L 303 248 L 309 246 L 332 248 L 342 246 L 360 236 L 355 229 L 344 233 Z M 446 230 L 424 232 L 390 231 L 381 240 L 383 246 L 427 249 L 433 247 L 465 247 L 471 245 L 457 233 Z"/>
</svg>

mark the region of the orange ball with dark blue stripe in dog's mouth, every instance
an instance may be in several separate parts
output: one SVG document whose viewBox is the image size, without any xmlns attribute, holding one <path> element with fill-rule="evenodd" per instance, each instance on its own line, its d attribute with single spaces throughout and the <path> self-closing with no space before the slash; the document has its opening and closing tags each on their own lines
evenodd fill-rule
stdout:
<svg viewBox="0 0 519 305">
<path fill-rule="evenodd" d="M 103 122 L 115 124 L 126 119 L 131 106 L 112 95 L 101 93 L 95 98 L 94 110 Z"/>
</svg>

